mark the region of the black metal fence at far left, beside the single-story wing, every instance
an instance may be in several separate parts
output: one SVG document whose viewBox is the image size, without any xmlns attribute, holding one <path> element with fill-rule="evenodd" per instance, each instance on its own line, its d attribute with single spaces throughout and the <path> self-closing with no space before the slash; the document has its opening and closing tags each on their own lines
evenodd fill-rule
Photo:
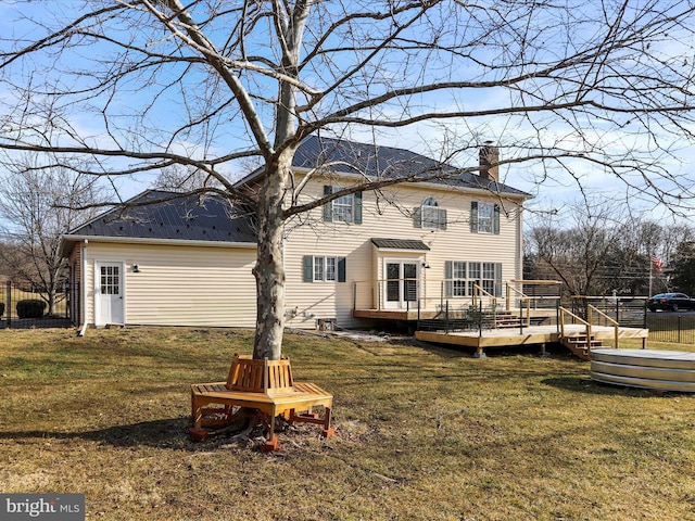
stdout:
<svg viewBox="0 0 695 521">
<path fill-rule="evenodd" d="M 8 280 L 0 283 L 0 329 L 26 329 L 26 328 L 70 328 L 78 322 L 75 317 L 73 304 L 77 302 L 78 288 L 64 284 L 55 293 L 54 307 L 48 307 L 46 292 L 30 284 L 15 284 Z M 46 312 L 41 317 L 26 318 L 17 314 L 17 303 L 26 300 L 46 302 Z"/>
</svg>

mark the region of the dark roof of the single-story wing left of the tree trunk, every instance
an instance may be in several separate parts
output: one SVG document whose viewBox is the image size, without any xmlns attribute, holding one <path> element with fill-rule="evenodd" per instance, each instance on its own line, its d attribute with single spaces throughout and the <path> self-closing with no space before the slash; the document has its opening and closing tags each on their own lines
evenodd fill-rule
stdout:
<svg viewBox="0 0 695 521">
<path fill-rule="evenodd" d="M 96 219 L 72 230 L 70 236 L 180 239 L 255 243 L 253 218 L 244 207 L 216 195 L 177 195 L 148 190 Z"/>
</svg>

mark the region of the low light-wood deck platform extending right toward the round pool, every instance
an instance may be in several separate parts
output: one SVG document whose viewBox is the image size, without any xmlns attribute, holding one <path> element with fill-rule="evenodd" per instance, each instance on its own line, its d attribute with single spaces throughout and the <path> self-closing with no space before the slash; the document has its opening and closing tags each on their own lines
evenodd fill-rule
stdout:
<svg viewBox="0 0 695 521">
<path fill-rule="evenodd" d="M 582 333 L 585 327 L 581 325 L 566 325 L 565 333 Z M 612 327 L 592 326 L 592 332 L 596 340 L 605 340 L 612 343 L 615 330 Z M 649 334 L 648 329 L 619 328 L 619 339 L 643 339 Z M 559 343 L 560 333 L 557 326 L 531 326 L 520 330 L 516 329 L 490 329 L 479 331 L 416 331 L 415 338 L 424 342 L 438 344 L 460 345 L 475 347 L 479 354 L 485 348 L 509 347 L 539 344 L 544 347 L 547 343 Z"/>
</svg>

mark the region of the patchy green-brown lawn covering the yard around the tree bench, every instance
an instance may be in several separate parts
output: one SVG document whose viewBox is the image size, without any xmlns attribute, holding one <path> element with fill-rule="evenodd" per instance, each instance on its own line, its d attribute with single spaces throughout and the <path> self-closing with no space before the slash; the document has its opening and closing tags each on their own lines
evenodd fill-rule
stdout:
<svg viewBox="0 0 695 521">
<path fill-rule="evenodd" d="M 288 334 L 294 378 L 336 396 L 337 434 L 301 425 L 263 454 L 187 436 L 189 384 L 224 380 L 250 331 L 0 342 L 0 491 L 85 493 L 88 519 L 695 519 L 695 396 L 595 384 L 559 350 Z"/>
</svg>

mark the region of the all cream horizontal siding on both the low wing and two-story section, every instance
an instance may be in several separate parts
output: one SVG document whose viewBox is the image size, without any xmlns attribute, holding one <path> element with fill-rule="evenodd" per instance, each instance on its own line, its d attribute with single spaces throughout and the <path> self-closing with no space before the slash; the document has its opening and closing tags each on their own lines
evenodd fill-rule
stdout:
<svg viewBox="0 0 695 521">
<path fill-rule="evenodd" d="M 300 194 L 301 202 L 323 196 L 328 182 L 317 176 Z M 410 209 L 421 207 L 429 196 L 435 199 L 440 211 L 447 208 L 445 228 L 413 226 Z M 287 223 L 282 260 L 288 327 L 315 328 L 320 318 L 334 318 L 339 327 L 365 327 L 362 319 L 353 318 L 352 310 L 377 308 L 380 291 L 377 281 L 384 279 L 384 258 L 418 263 L 421 267 L 418 296 L 426 309 L 434 309 L 441 303 L 445 293 L 444 266 L 452 259 L 479 263 L 480 276 L 476 280 L 483 280 L 483 274 L 490 272 L 484 263 L 495 266 L 494 280 L 521 277 L 521 219 L 520 213 L 508 211 L 513 208 L 511 202 L 505 202 L 507 213 L 500 216 L 497 234 L 471 233 L 473 203 L 495 201 L 493 196 L 485 200 L 480 192 L 458 193 L 447 187 L 404 185 L 382 189 L 378 199 L 374 192 L 364 192 L 355 201 L 359 201 L 354 207 L 359 207 L 359 214 L 353 216 L 356 219 L 359 215 L 361 226 L 325 221 L 325 208 Z M 397 206 L 387 201 L 395 201 Z M 429 250 L 379 251 L 371 238 L 417 240 Z M 482 252 L 484 257 L 479 255 Z M 314 282 L 315 256 L 337 259 L 334 276 L 332 262 L 324 263 L 324 278 L 328 281 Z M 312 283 L 305 282 L 305 257 L 312 258 Z M 94 263 L 122 262 L 127 325 L 253 327 L 255 260 L 254 247 L 119 244 L 90 239 L 87 290 L 80 291 L 81 295 L 88 294 L 87 321 L 94 321 Z M 132 272 L 136 264 L 138 274 Z M 465 289 L 459 291 L 470 291 L 473 277 L 469 269 L 466 264 L 462 279 Z M 332 277 L 339 280 L 342 277 L 345 282 L 333 282 Z"/>
</svg>

